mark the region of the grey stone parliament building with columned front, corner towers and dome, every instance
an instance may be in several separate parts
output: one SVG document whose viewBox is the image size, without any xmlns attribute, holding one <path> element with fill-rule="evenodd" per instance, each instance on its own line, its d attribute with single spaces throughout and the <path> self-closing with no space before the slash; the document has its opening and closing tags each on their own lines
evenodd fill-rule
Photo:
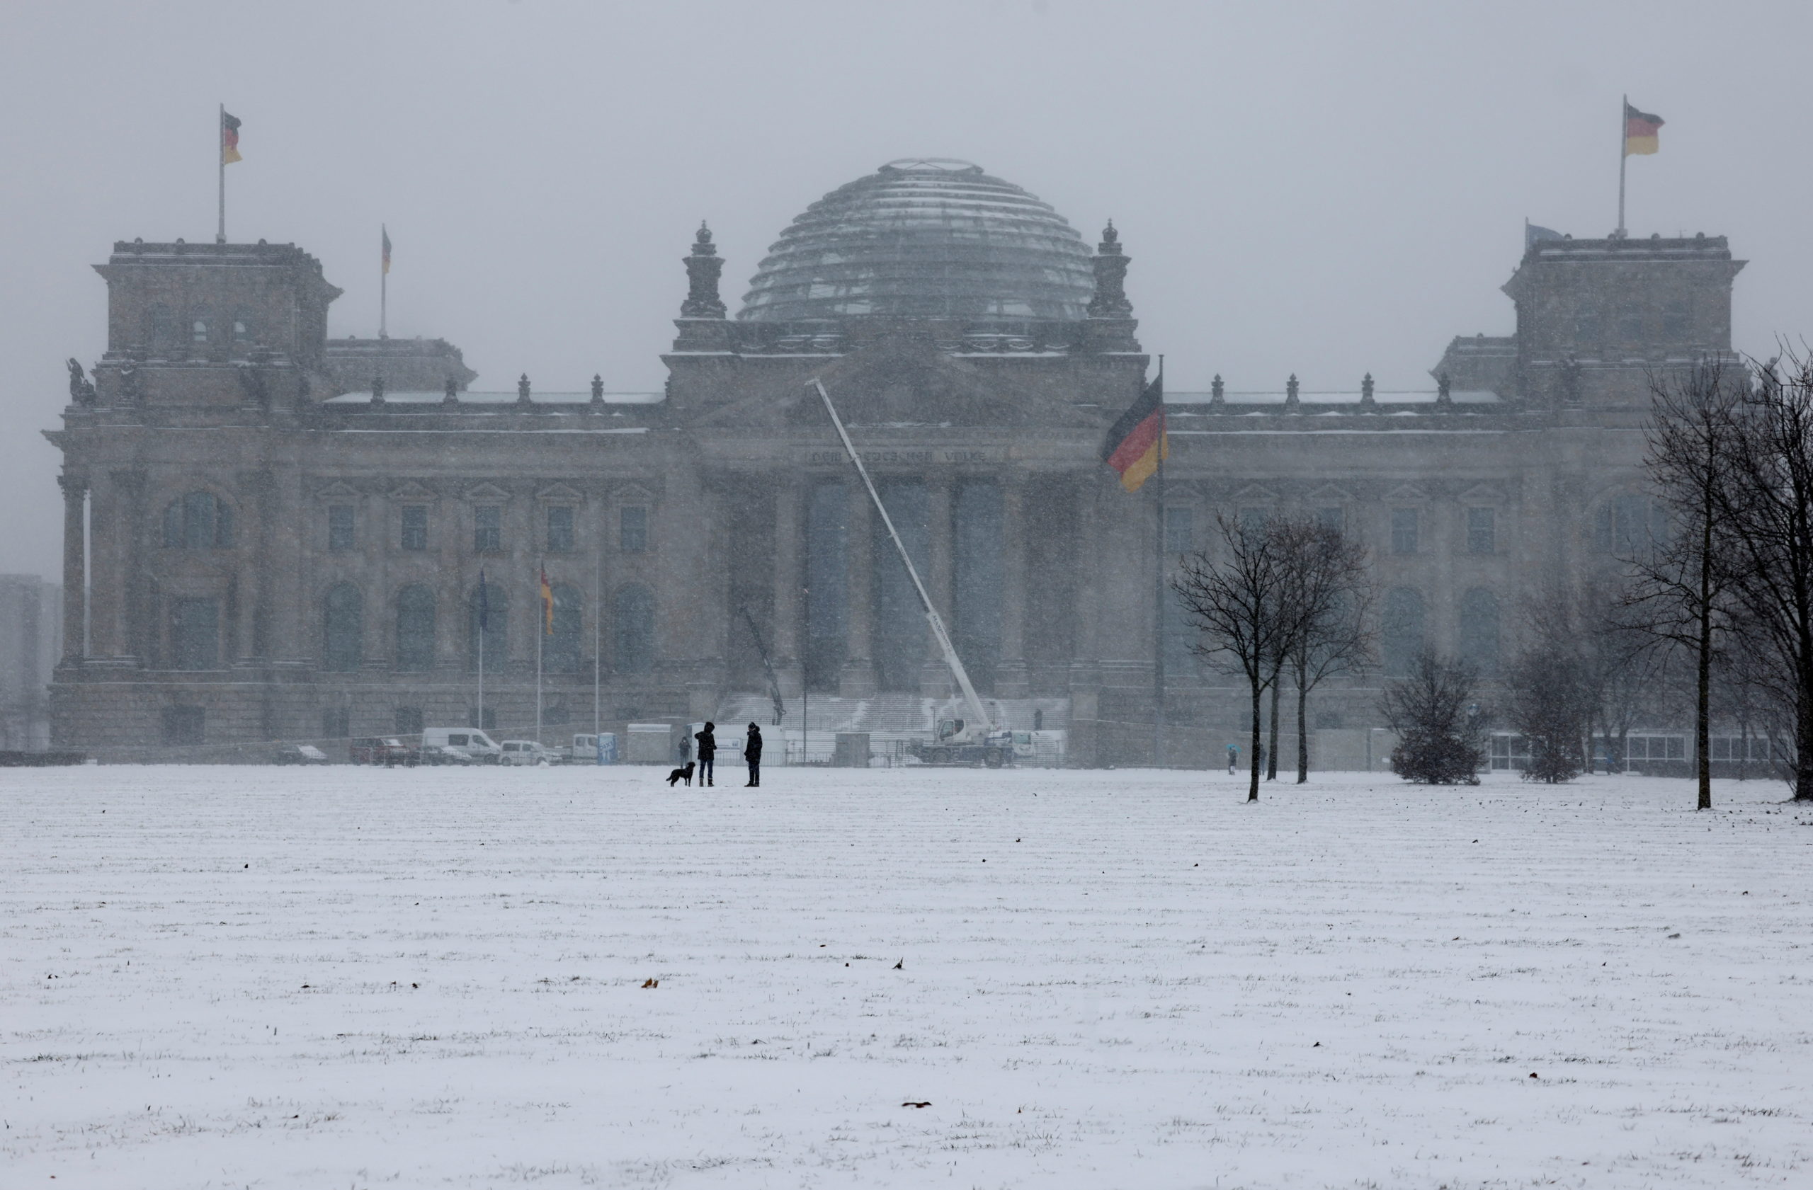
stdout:
<svg viewBox="0 0 1813 1190">
<path fill-rule="evenodd" d="M 1061 706 L 1071 763 L 1149 759 L 1162 634 L 1168 759 L 1215 763 L 1240 697 L 1160 629 L 1157 578 L 1217 513 L 1305 509 L 1360 534 L 1387 668 L 1416 641 L 1508 656 L 1519 601 L 1585 574 L 1635 514 L 1648 375 L 1730 348 L 1722 239 L 1532 245 L 1507 284 L 1516 335 L 1456 339 L 1434 393 L 1169 395 L 1160 543 L 1157 485 L 1126 494 L 1100 464 L 1149 371 L 1131 257 L 959 167 L 896 163 L 816 205 L 734 319 L 700 228 L 649 395 L 528 375 L 471 393 L 451 348 L 428 353 L 439 393 L 355 384 L 306 254 L 116 245 L 107 355 L 49 435 L 63 583 L 92 580 L 85 609 L 65 601 L 56 741 L 228 757 L 468 723 L 480 601 L 504 735 L 535 723 L 538 656 L 548 739 L 591 728 L 595 665 L 607 730 L 713 717 L 771 679 L 787 699 L 948 697 L 819 379 L 1008 719 Z M 814 281 L 827 259 L 836 284 Z M 1004 275 L 1033 288 L 990 292 Z M 1316 726 L 1372 726 L 1376 685 L 1318 694 Z"/>
</svg>

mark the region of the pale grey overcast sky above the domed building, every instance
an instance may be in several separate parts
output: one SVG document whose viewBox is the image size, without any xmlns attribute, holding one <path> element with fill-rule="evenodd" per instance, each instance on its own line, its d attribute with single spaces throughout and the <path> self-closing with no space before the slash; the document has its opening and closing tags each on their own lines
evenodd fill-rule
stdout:
<svg viewBox="0 0 1813 1190">
<path fill-rule="evenodd" d="M 334 335 L 441 335 L 475 388 L 654 389 L 709 219 L 734 310 L 780 230 L 901 156 L 966 158 L 1093 245 L 1171 388 L 1427 388 L 1507 333 L 1523 219 L 1605 235 L 1619 94 L 1668 123 L 1630 230 L 1728 234 L 1737 346 L 1813 328 L 1804 56 L 1780 4 L 0 5 L 0 571 L 60 572 L 63 359 L 114 239 L 294 241 Z"/>
</svg>

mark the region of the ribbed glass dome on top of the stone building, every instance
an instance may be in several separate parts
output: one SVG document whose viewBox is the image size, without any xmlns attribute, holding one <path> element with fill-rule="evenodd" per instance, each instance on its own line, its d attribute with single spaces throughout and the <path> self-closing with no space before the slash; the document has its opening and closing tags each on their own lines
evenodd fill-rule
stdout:
<svg viewBox="0 0 1813 1190">
<path fill-rule="evenodd" d="M 1090 248 L 979 165 L 888 161 L 812 203 L 769 248 L 740 319 L 1081 321 Z"/>
</svg>

